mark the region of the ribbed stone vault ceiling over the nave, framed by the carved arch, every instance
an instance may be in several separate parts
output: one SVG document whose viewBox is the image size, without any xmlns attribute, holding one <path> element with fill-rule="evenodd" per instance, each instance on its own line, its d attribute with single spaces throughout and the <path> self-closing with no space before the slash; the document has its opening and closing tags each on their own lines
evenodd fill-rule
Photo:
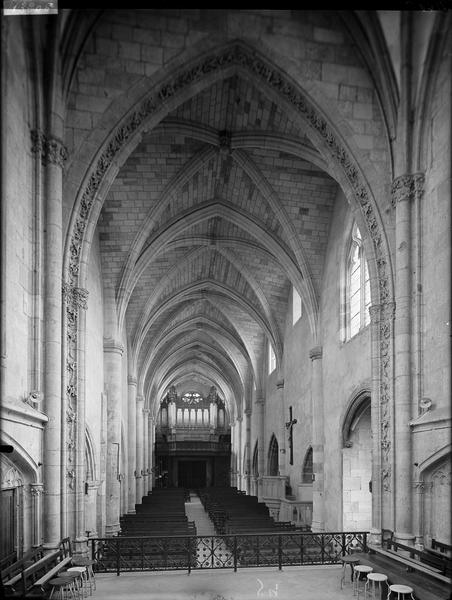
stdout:
<svg viewBox="0 0 452 600">
<path fill-rule="evenodd" d="M 182 104 L 121 167 L 102 269 L 143 392 L 215 385 L 241 406 L 278 360 L 295 285 L 318 295 L 337 183 L 300 127 L 234 75 Z"/>
</svg>

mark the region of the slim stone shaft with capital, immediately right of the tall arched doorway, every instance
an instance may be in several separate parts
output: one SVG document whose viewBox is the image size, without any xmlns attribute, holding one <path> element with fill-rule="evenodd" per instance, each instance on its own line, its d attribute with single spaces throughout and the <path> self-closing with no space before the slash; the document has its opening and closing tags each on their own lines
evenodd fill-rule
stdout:
<svg viewBox="0 0 452 600">
<path fill-rule="evenodd" d="M 381 502 L 381 436 L 380 436 L 380 313 L 379 304 L 374 304 L 370 312 L 371 344 L 371 429 L 372 429 L 372 527 L 370 543 L 381 545 L 382 502 Z"/>
</svg>

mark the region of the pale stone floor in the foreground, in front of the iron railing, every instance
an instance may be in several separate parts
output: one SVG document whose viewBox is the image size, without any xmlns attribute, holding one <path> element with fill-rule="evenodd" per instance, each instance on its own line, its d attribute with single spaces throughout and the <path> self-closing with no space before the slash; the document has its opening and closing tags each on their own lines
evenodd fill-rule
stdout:
<svg viewBox="0 0 452 600">
<path fill-rule="evenodd" d="M 350 584 L 340 588 L 340 566 L 101 573 L 93 600 L 352 600 Z M 362 597 L 362 596 L 361 596 Z M 355 597 L 356 599 L 356 597 Z"/>
</svg>

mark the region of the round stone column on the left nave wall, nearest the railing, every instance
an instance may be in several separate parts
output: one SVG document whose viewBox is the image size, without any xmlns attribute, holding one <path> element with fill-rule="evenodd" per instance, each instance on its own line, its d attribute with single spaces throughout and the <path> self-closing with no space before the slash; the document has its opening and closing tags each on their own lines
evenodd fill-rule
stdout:
<svg viewBox="0 0 452 600">
<path fill-rule="evenodd" d="M 106 473 L 106 536 L 119 531 L 121 485 L 121 373 L 124 347 L 116 340 L 104 339 L 104 373 L 107 392 L 107 473 Z"/>
</svg>

